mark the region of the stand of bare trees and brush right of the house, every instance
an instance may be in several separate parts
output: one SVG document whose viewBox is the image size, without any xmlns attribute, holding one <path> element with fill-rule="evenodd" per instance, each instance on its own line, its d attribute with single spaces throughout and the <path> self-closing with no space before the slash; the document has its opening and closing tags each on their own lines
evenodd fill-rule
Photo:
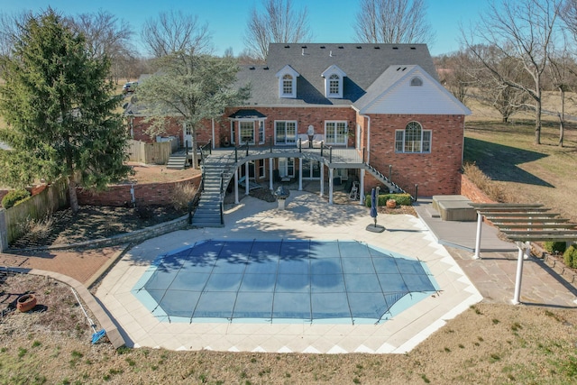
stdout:
<svg viewBox="0 0 577 385">
<path fill-rule="evenodd" d="M 461 32 L 461 50 L 436 58 L 445 87 L 465 104 L 476 98 L 493 106 L 503 122 L 519 111 L 532 112 L 536 144 L 543 93 L 554 91 L 563 146 L 565 104 L 574 103 L 567 92 L 577 87 L 577 0 L 491 3 L 479 23 Z"/>
</svg>

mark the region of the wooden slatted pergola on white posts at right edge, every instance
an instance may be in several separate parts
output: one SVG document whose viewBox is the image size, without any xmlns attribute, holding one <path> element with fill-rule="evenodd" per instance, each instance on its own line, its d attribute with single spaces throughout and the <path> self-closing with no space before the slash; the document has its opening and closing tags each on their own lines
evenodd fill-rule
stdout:
<svg viewBox="0 0 577 385">
<path fill-rule="evenodd" d="M 559 218 L 541 204 L 471 203 L 477 210 L 477 236 L 474 258 L 481 258 L 481 224 L 483 216 L 495 225 L 508 239 L 517 243 L 517 276 L 513 304 L 521 296 L 523 260 L 528 258 L 531 242 L 570 242 L 577 240 L 577 224 Z"/>
</svg>

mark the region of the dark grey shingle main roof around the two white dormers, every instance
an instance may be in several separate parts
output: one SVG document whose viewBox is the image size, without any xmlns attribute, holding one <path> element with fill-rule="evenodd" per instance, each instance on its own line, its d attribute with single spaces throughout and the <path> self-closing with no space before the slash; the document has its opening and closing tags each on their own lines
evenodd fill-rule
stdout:
<svg viewBox="0 0 577 385">
<path fill-rule="evenodd" d="M 435 65 L 426 44 L 334 44 L 271 43 L 266 65 L 243 66 L 238 85 L 251 83 L 247 105 L 352 105 L 389 66 L 417 64 L 437 79 Z M 297 97 L 279 98 L 275 75 L 289 65 L 296 70 Z M 321 74 L 330 66 L 346 73 L 343 98 L 325 97 L 325 79 Z"/>
</svg>

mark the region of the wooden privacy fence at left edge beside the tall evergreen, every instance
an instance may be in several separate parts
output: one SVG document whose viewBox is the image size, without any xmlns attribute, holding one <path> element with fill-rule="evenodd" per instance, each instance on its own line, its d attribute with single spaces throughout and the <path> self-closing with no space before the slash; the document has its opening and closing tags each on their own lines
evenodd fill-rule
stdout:
<svg viewBox="0 0 577 385">
<path fill-rule="evenodd" d="M 44 188 L 39 194 L 26 199 L 22 203 L 2 210 L 0 216 L 0 232 L 5 234 L 4 242 L 0 241 L 0 249 L 6 249 L 8 244 L 18 239 L 26 229 L 26 222 L 41 220 L 68 205 L 68 182 L 60 179 Z M 1 250 L 0 250 L 1 251 Z"/>
</svg>

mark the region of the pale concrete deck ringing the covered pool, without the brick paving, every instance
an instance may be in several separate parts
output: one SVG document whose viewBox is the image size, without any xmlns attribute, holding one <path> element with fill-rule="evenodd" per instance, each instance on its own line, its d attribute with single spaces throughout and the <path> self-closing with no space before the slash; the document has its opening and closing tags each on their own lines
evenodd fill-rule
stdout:
<svg viewBox="0 0 577 385">
<path fill-rule="evenodd" d="M 406 353 L 446 320 L 482 300 L 459 264 L 412 215 L 379 215 L 384 233 L 366 230 L 372 218 L 359 205 L 328 206 L 316 194 L 290 191 L 287 209 L 244 197 L 230 206 L 224 228 L 179 231 L 141 243 L 117 262 L 96 297 L 120 325 L 126 344 L 171 350 L 269 353 Z M 206 239 L 355 240 L 425 261 L 440 286 L 435 295 L 378 325 L 161 322 L 131 290 L 158 255 Z"/>
</svg>

